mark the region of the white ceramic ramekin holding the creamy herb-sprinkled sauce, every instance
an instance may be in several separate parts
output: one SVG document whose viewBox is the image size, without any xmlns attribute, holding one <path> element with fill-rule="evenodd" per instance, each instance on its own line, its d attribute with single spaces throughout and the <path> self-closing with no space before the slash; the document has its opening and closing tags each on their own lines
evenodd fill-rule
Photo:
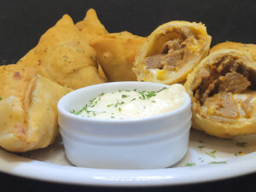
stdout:
<svg viewBox="0 0 256 192">
<path fill-rule="evenodd" d="M 115 82 L 74 90 L 58 102 L 67 159 L 75 166 L 153 169 L 172 166 L 186 154 L 191 125 L 190 98 L 169 113 L 143 119 L 88 119 L 79 110 L 91 98 L 113 90 L 160 90 L 166 84 Z"/>
</svg>

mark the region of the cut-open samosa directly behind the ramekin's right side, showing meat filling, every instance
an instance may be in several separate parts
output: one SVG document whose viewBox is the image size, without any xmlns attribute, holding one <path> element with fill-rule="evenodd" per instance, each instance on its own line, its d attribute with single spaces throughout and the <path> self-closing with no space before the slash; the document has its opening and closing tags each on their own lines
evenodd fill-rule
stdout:
<svg viewBox="0 0 256 192">
<path fill-rule="evenodd" d="M 211 39 L 201 23 L 171 21 L 159 26 L 137 55 L 133 68 L 137 80 L 182 83 L 207 56 Z"/>
</svg>

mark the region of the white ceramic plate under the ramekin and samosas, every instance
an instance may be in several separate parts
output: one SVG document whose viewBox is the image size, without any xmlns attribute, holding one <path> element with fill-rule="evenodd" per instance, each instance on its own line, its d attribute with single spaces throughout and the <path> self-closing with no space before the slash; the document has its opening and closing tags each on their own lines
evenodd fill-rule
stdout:
<svg viewBox="0 0 256 192">
<path fill-rule="evenodd" d="M 256 135 L 219 139 L 199 131 L 191 131 L 189 151 L 183 160 L 166 169 L 103 170 L 72 166 L 65 157 L 61 138 L 49 148 L 22 156 L 0 149 L 1 172 L 49 182 L 99 186 L 201 183 L 256 172 L 255 161 Z"/>
</svg>

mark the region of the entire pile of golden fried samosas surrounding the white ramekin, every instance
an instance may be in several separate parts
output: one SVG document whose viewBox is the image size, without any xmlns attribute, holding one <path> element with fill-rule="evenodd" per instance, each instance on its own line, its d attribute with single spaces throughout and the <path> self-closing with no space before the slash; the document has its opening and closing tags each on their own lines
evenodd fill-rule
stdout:
<svg viewBox="0 0 256 192">
<path fill-rule="evenodd" d="M 58 135 L 61 96 L 107 81 L 185 83 L 195 129 L 217 137 L 256 133 L 256 45 L 210 49 L 211 39 L 195 22 L 170 21 L 144 38 L 109 33 L 94 9 L 77 24 L 63 15 L 20 61 L 0 67 L 0 146 L 47 147 Z"/>
</svg>

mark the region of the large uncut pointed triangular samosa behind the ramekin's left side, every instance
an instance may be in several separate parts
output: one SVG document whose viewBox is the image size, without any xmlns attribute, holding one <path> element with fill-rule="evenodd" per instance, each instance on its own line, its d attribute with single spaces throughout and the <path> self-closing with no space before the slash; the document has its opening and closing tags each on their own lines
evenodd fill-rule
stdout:
<svg viewBox="0 0 256 192">
<path fill-rule="evenodd" d="M 68 15 L 45 32 L 17 64 L 37 67 L 37 73 L 72 89 L 105 82 L 98 73 L 95 50 Z"/>
</svg>

